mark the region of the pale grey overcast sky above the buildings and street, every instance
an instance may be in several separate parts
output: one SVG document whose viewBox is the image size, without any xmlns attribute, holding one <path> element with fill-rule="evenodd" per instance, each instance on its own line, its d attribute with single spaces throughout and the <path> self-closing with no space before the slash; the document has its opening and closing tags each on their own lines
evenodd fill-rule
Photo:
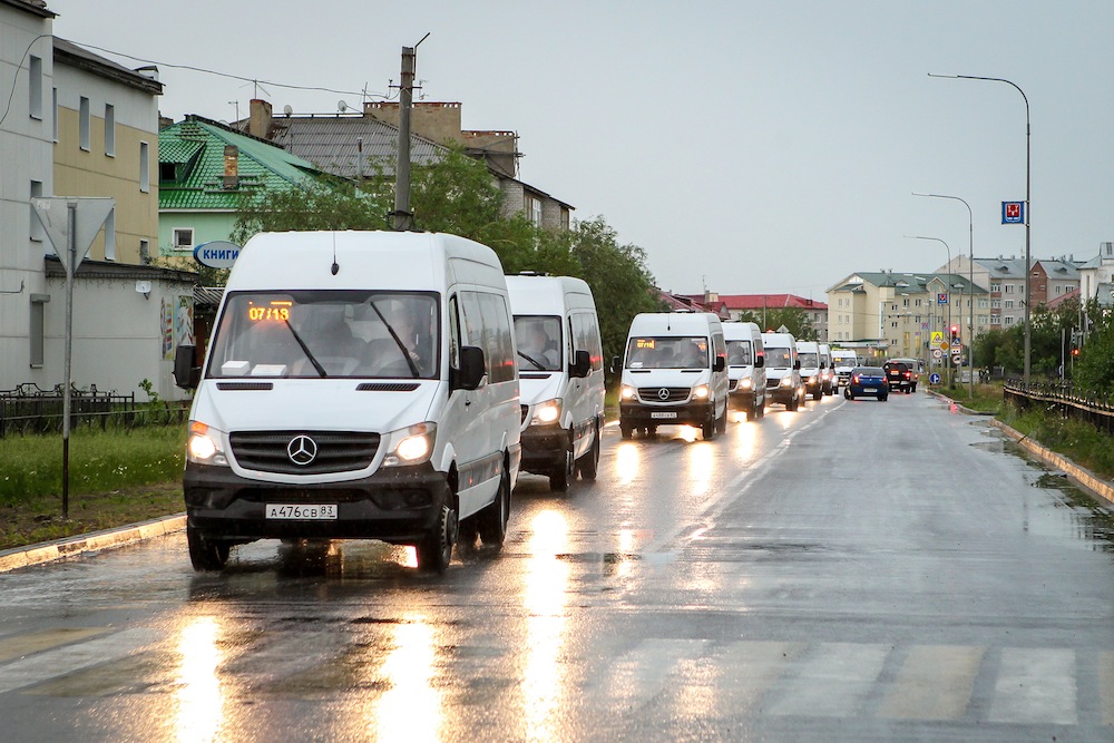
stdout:
<svg viewBox="0 0 1114 743">
<path fill-rule="evenodd" d="M 520 178 L 602 215 L 678 293 L 824 300 L 853 271 L 1024 256 L 1000 203 L 1025 198 L 1032 254 L 1114 241 L 1114 2 L 561 3 L 475 0 L 48 0 L 55 33 L 159 65 L 160 109 L 232 120 L 251 82 L 275 111 L 332 113 L 399 81 L 517 131 Z M 105 52 L 100 52 L 105 53 Z M 138 67 L 143 62 L 105 53 Z M 329 88 L 301 90 L 282 86 Z M 338 92 L 339 91 L 339 92 Z M 233 102 L 229 102 L 233 101 Z"/>
</svg>

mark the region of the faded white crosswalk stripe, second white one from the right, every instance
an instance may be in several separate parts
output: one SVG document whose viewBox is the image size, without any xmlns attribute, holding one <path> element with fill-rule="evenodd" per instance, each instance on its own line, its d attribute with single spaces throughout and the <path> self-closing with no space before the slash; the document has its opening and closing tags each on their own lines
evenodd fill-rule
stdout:
<svg viewBox="0 0 1114 743">
<path fill-rule="evenodd" d="M 852 717 L 878 682 L 890 646 L 822 643 L 788 680 L 771 715 Z"/>
</svg>

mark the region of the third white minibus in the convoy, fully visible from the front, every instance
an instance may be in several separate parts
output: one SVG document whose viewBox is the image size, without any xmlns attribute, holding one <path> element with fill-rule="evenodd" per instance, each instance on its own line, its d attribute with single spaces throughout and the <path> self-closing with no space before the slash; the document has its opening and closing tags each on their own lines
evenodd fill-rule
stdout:
<svg viewBox="0 0 1114 743">
<path fill-rule="evenodd" d="M 698 426 L 727 430 L 727 361 L 720 319 L 709 312 L 641 313 L 631 321 L 619 387 L 619 431 Z M 613 365 L 619 366 L 616 358 Z"/>
</svg>

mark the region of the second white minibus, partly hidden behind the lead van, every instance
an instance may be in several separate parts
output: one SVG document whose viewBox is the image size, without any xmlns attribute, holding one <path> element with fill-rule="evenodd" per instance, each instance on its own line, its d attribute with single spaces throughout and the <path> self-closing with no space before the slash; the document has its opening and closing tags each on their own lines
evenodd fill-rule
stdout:
<svg viewBox="0 0 1114 743">
<path fill-rule="evenodd" d="M 604 351 L 592 290 L 580 278 L 507 276 L 522 404 L 522 469 L 568 490 L 596 479 L 604 429 Z"/>
</svg>

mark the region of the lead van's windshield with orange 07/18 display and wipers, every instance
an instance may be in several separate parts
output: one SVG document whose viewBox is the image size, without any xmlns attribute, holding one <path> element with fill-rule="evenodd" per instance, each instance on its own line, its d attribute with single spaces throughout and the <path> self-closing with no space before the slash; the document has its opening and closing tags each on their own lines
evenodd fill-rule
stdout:
<svg viewBox="0 0 1114 743">
<path fill-rule="evenodd" d="M 434 379 L 439 317 L 432 293 L 236 292 L 208 375 Z"/>
</svg>

